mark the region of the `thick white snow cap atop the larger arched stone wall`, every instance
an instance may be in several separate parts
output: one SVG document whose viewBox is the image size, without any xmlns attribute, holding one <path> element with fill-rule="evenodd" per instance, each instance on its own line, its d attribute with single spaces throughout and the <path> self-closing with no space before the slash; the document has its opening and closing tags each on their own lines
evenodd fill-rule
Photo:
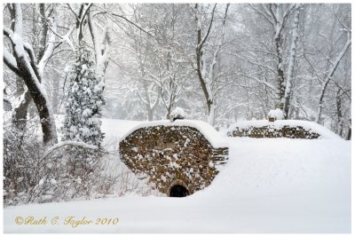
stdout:
<svg viewBox="0 0 355 237">
<path fill-rule="evenodd" d="M 130 135 L 135 130 L 154 127 L 154 126 L 187 126 L 192 127 L 194 129 L 200 130 L 201 134 L 209 141 L 209 143 L 214 147 L 225 147 L 228 146 L 225 142 L 221 141 L 224 139 L 220 133 L 217 132 L 209 123 L 202 122 L 198 120 L 176 120 L 174 122 L 170 122 L 170 120 L 157 120 L 151 122 L 142 122 L 135 126 L 133 129 L 127 132 L 119 142 L 124 140 L 127 136 Z"/>
</svg>

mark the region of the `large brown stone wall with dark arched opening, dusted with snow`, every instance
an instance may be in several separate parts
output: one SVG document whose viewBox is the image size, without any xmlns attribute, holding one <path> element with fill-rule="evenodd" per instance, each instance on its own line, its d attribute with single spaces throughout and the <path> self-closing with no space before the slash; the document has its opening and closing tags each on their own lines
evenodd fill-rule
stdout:
<svg viewBox="0 0 355 237">
<path fill-rule="evenodd" d="M 228 159 L 227 147 L 212 146 L 216 142 L 207 139 L 217 131 L 201 123 L 205 122 L 141 124 L 120 142 L 121 159 L 138 178 L 147 178 L 163 194 L 193 194 L 209 186 Z"/>
</svg>

